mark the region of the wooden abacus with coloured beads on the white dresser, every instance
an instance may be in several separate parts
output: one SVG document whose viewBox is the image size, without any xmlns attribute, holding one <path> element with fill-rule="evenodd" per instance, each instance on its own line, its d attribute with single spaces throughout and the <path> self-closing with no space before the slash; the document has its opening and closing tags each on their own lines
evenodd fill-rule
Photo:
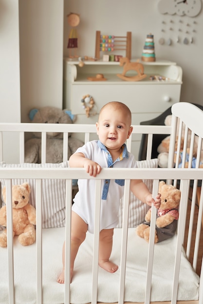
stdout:
<svg viewBox="0 0 203 304">
<path fill-rule="evenodd" d="M 113 37 L 113 47 L 109 46 L 108 41 Z M 102 40 L 105 40 L 103 42 Z M 107 46 L 102 50 L 101 44 L 107 44 Z M 95 58 L 100 59 L 100 51 L 126 51 L 126 56 L 131 59 L 131 32 L 127 32 L 126 36 L 102 36 L 101 32 L 96 31 L 96 45 L 95 45 Z"/>
</svg>

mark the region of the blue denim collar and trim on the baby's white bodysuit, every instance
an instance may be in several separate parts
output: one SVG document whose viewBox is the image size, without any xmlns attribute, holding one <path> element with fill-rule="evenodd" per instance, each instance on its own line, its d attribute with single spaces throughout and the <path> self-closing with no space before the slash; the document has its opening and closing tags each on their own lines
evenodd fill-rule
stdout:
<svg viewBox="0 0 203 304">
<path fill-rule="evenodd" d="M 102 150 L 104 150 L 107 153 L 107 155 L 108 155 L 107 156 L 108 168 L 112 168 L 113 165 L 116 162 L 121 161 L 123 158 L 128 158 L 129 157 L 126 144 L 123 144 L 123 146 L 122 146 L 122 152 L 121 152 L 120 156 L 114 162 L 112 160 L 111 153 L 107 150 L 107 148 L 105 147 L 105 145 L 101 143 L 100 140 L 98 140 L 97 145 L 98 145 L 99 148 L 101 148 Z M 125 180 L 115 180 L 115 183 L 118 184 L 118 185 L 120 185 L 120 186 L 124 186 Z M 105 180 L 104 181 L 104 187 L 103 187 L 103 190 L 102 190 L 102 200 L 107 200 L 107 195 L 108 195 L 108 191 L 109 191 L 109 185 L 110 185 L 110 180 Z"/>
</svg>

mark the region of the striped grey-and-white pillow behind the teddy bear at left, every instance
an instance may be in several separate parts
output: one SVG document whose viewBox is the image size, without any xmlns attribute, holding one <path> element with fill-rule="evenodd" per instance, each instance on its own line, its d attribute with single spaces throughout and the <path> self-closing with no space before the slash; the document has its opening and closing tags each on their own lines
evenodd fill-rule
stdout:
<svg viewBox="0 0 203 304">
<path fill-rule="evenodd" d="M 68 161 L 60 164 L 4 164 L 0 168 L 68 168 Z M 13 179 L 13 185 L 28 183 L 31 186 L 29 203 L 36 208 L 36 184 L 34 179 Z M 1 187 L 5 180 L 0 180 Z M 42 180 L 42 227 L 56 228 L 65 226 L 65 185 L 63 179 Z"/>
</svg>

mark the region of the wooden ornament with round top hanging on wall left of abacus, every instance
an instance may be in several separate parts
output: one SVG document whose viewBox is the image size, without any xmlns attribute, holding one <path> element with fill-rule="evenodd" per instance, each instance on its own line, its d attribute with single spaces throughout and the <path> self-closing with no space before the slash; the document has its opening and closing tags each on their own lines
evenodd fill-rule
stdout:
<svg viewBox="0 0 203 304">
<path fill-rule="evenodd" d="M 76 49 L 77 49 L 77 30 L 75 29 L 76 26 L 80 23 L 80 17 L 78 14 L 70 13 L 67 15 L 68 18 L 68 24 L 72 27 L 69 39 L 68 39 L 68 46 L 69 49 L 69 57 L 74 58 L 78 57 L 76 55 Z M 71 50 L 73 50 L 73 55 L 71 54 Z"/>
</svg>

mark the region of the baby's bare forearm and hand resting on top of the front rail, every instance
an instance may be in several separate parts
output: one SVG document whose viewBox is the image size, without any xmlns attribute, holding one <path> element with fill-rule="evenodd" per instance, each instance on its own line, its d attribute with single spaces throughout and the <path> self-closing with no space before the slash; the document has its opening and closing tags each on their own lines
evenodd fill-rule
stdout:
<svg viewBox="0 0 203 304">
<path fill-rule="evenodd" d="M 101 166 L 86 158 L 83 153 L 72 154 L 69 158 L 69 166 L 73 168 L 85 168 L 86 172 L 94 177 L 101 172 Z"/>
</svg>

